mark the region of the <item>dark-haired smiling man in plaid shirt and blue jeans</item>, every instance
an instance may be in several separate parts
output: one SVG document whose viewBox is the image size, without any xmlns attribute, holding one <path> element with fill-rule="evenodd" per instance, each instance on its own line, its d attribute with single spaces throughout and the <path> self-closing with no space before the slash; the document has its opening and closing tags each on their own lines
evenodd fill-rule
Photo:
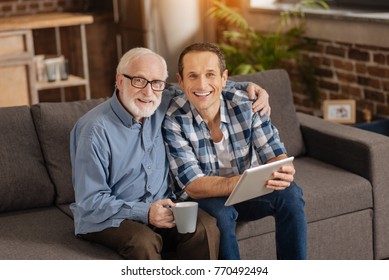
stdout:
<svg viewBox="0 0 389 280">
<path fill-rule="evenodd" d="M 272 215 L 277 257 L 306 258 L 306 218 L 295 169 L 284 165 L 267 187 L 275 191 L 234 206 L 224 206 L 247 168 L 286 158 L 286 150 L 268 114 L 253 113 L 245 93 L 224 88 L 228 73 L 215 45 L 187 47 L 178 62 L 185 95 L 173 99 L 163 123 L 170 168 L 182 199 L 193 199 L 217 219 L 220 258 L 239 259 L 237 221 Z"/>
</svg>

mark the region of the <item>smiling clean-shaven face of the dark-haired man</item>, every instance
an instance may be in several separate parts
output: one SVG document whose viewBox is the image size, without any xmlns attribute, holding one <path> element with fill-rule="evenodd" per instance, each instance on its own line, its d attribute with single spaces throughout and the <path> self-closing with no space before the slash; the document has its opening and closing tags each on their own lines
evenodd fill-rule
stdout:
<svg viewBox="0 0 389 280">
<path fill-rule="evenodd" d="M 219 110 L 220 95 L 227 81 L 227 70 L 220 73 L 218 56 L 212 52 L 194 51 L 183 58 L 182 77 L 178 81 L 197 111 Z"/>
</svg>

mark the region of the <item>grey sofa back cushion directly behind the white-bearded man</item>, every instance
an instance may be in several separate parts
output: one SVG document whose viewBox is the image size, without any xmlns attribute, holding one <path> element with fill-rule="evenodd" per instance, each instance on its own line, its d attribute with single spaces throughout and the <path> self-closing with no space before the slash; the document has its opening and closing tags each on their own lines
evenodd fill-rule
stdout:
<svg viewBox="0 0 389 280">
<path fill-rule="evenodd" d="M 31 107 L 43 156 L 57 192 L 57 204 L 74 201 L 70 131 L 82 115 L 104 100 L 40 103 Z"/>
</svg>

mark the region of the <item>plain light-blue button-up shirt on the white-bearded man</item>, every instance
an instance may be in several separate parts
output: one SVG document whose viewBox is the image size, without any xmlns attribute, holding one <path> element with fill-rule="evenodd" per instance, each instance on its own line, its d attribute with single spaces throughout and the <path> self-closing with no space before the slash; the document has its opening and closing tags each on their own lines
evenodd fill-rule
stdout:
<svg viewBox="0 0 389 280">
<path fill-rule="evenodd" d="M 143 124 L 116 93 L 76 123 L 70 136 L 76 234 L 117 227 L 124 219 L 147 224 L 151 203 L 172 196 L 161 134 L 167 96 Z"/>
</svg>

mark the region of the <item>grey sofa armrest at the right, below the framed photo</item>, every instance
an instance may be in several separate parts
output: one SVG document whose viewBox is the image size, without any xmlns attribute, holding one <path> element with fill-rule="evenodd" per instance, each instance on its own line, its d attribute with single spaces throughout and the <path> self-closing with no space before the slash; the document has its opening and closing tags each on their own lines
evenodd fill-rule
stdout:
<svg viewBox="0 0 389 280">
<path fill-rule="evenodd" d="M 297 113 L 306 155 L 358 174 L 371 182 L 374 255 L 389 257 L 389 137 Z"/>
</svg>

